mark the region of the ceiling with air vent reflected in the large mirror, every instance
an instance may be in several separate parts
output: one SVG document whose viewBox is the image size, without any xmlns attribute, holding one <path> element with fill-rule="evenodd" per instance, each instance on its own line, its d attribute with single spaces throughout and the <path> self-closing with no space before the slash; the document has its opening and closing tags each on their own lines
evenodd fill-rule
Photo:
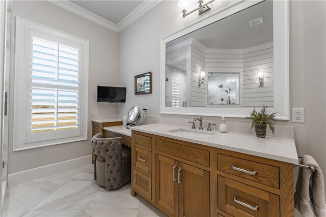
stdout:
<svg viewBox="0 0 326 217">
<path fill-rule="evenodd" d="M 249 21 L 263 18 L 250 27 Z M 265 1 L 205 26 L 167 44 L 195 38 L 207 48 L 244 49 L 273 41 L 273 1 Z"/>
</svg>

